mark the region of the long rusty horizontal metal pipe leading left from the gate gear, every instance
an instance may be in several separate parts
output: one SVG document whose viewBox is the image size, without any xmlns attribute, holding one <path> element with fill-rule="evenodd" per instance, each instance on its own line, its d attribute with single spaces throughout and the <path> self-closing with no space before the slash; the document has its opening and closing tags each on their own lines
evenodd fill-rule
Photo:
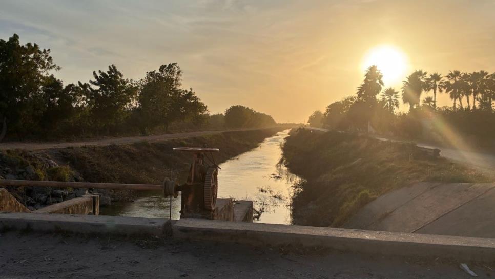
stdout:
<svg viewBox="0 0 495 279">
<path fill-rule="evenodd" d="M 163 190 L 159 184 L 120 184 L 120 183 L 92 183 L 92 182 L 59 182 L 59 181 L 35 181 L 35 180 L 7 180 L 0 179 L 0 186 L 14 187 L 53 187 L 53 188 L 95 188 L 118 190 Z"/>
</svg>

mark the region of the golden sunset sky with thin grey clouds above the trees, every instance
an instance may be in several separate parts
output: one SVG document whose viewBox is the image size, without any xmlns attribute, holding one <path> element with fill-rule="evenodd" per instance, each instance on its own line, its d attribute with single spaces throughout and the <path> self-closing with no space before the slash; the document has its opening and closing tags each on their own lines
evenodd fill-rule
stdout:
<svg viewBox="0 0 495 279">
<path fill-rule="evenodd" d="M 241 104 L 278 122 L 354 94 L 379 46 L 403 59 L 403 76 L 385 85 L 397 90 L 415 69 L 495 71 L 491 0 L 0 0 L 0 38 L 13 33 L 50 48 L 66 84 L 110 64 L 137 79 L 177 62 L 211 113 Z"/>
</svg>

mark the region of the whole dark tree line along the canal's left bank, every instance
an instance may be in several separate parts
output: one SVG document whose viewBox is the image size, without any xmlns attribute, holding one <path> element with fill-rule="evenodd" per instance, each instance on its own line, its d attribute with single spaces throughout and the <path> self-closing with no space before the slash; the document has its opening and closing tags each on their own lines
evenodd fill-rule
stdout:
<svg viewBox="0 0 495 279">
<path fill-rule="evenodd" d="M 125 78 L 115 65 L 93 72 L 89 82 L 64 85 L 50 49 L 0 40 L 0 140 L 118 135 L 177 129 L 262 127 L 269 115 L 233 106 L 210 115 L 192 89 L 182 88 L 182 70 L 165 64 L 144 78 Z M 243 113 L 235 113 L 243 108 Z M 241 119 L 231 119 L 241 117 Z M 249 120 L 247 120 L 249 119 Z M 237 126 L 236 126 L 237 125 Z"/>
</svg>

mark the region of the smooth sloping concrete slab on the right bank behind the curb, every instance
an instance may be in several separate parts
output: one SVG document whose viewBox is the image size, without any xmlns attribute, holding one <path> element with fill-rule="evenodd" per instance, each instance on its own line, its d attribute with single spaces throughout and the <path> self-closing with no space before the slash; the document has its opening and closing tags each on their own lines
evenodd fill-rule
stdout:
<svg viewBox="0 0 495 279">
<path fill-rule="evenodd" d="M 468 183 L 420 183 L 404 187 L 369 203 L 344 227 L 495 237 L 495 226 L 490 226 L 495 223 L 484 216 L 489 211 L 495 212 L 494 187 L 495 184 Z M 461 216 L 464 222 L 458 221 Z"/>
</svg>

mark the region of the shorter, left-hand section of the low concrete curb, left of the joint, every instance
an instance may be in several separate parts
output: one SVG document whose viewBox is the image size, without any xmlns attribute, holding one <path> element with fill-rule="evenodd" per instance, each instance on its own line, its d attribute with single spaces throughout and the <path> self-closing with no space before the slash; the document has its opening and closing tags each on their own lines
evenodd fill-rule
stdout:
<svg viewBox="0 0 495 279">
<path fill-rule="evenodd" d="M 164 236 L 162 218 L 46 213 L 0 213 L 0 230 L 68 231 L 73 233 Z"/>
</svg>

